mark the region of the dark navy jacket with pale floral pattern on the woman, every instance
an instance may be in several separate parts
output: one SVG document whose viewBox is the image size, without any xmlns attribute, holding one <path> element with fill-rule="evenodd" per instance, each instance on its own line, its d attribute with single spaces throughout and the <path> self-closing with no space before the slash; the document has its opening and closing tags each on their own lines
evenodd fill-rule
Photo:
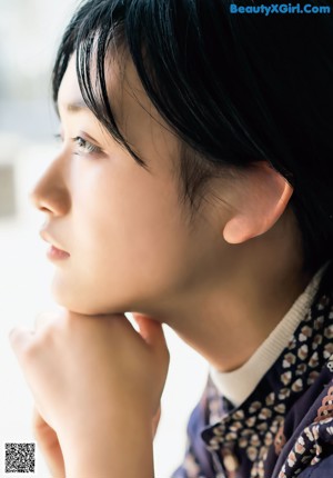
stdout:
<svg viewBox="0 0 333 478">
<path fill-rule="evenodd" d="M 172 478 L 333 478 L 332 269 L 287 347 L 240 407 L 208 381 Z"/>
</svg>

